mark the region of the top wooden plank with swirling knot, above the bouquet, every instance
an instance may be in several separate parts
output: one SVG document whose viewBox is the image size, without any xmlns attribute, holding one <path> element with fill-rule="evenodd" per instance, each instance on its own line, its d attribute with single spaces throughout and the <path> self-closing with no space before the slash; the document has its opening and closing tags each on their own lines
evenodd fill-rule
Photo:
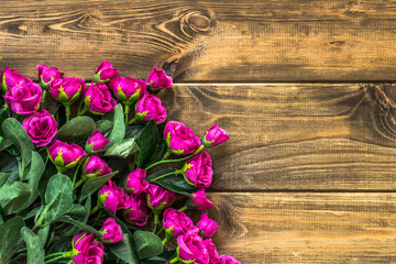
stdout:
<svg viewBox="0 0 396 264">
<path fill-rule="evenodd" d="M 396 76 L 396 1 L 2 1 L 2 65 L 86 79 L 103 59 L 176 81 L 362 81 Z M 2 67 L 1 65 L 1 67 Z"/>
</svg>

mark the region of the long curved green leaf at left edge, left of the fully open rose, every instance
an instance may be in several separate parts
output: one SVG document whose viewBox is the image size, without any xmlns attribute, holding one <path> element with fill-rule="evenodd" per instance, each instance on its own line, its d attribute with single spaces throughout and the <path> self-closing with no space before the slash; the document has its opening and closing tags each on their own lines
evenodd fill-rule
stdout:
<svg viewBox="0 0 396 264">
<path fill-rule="evenodd" d="M 2 123 L 2 130 L 4 136 L 21 151 L 22 167 L 25 168 L 31 162 L 34 145 L 22 128 L 22 124 L 16 119 L 8 118 Z"/>
</svg>

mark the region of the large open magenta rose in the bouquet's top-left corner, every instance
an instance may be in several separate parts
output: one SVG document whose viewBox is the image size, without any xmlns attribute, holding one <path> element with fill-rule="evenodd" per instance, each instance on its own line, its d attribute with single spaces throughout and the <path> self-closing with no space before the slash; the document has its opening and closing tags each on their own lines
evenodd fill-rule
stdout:
<svg viewBox="0 0 396 264">
<path fill-rule="evenodd" d="M 12 86 L 4 99 L 11 110 L 18 114 L 31 114 L 38 110 L 43 90 L 34 82 Z"/>
</svg>

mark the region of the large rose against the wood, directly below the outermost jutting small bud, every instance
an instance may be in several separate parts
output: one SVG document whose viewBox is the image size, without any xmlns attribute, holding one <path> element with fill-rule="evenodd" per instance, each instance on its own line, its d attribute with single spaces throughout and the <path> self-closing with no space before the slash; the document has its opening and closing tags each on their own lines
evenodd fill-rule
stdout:
<svg viewBox="0 0 396 264">
<path fill-rule="evenodd" d="M 182 168 L 182 174 L 189 185 L 194 185 L 197 188 L 209 187 L 213 176 L 211 166 L 212 161 L 209 154 L 202 151 L 186 162 Z"/>
</svg>

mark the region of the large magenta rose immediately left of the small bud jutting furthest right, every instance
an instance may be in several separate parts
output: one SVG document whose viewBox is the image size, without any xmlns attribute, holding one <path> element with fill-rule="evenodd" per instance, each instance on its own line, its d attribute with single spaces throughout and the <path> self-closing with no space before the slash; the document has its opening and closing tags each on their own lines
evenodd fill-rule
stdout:
<svg viewBox="0 0 396 264">
<path fill-rule="evenodd" d="M 168 153 L 176 155 L 191 154 L 201 145 L 201 141 L 193 130 L 176 121 L 166 123 L 164 140 L 166 140 Z"/>
</svg>

